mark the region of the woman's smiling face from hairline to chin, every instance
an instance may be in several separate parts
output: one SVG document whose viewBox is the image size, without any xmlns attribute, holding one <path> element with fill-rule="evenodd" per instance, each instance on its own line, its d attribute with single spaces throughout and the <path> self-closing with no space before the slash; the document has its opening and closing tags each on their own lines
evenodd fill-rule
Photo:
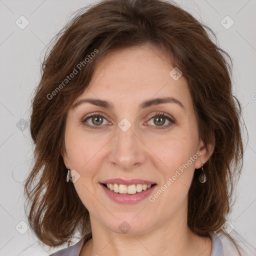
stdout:
<svg viewBox="0 0 256 256">
<path fill-rule="evenodd" d="M 186 220 L 194 169 L 208 156 L 185 79 L 172 69 L 155 46 L 112 51 L 68 110 L 62 156 L 92 225 L 145 233 Z M 116 193 L 102 185 L 108 179 L 131 186 Z M 155 185 L 133 190 L 142 183 Z"/>
</svg>

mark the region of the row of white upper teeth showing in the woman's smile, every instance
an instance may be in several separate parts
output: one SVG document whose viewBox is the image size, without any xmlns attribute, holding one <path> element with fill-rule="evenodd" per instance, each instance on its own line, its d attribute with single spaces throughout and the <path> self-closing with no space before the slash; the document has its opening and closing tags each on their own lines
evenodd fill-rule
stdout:
<svg viewBox="0 0 256 256">
<path fill-rule="evenodd" d="M 146 190 L 151 187 L 151 184 L 132 184 L 132 185 L 124 185 L 124 184 L 106 184 L 107 188 L 115 193 L 120 194 L 135 194 L 141 192 L 142 190 Z"/>
</svg>

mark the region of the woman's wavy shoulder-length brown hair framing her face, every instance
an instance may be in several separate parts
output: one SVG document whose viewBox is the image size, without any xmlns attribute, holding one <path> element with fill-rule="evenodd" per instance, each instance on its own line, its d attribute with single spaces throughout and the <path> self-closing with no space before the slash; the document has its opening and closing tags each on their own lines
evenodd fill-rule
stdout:
<svg viewBox="0 0 256 256">
<path fill-rule="evenodd" d="M 187 224 L 199 236 L 220 229 L 230 209 L 234 178 L 242 167 L 241 108 L 231 91 L 232 60 L 211 41 L 207 30 L 215 36 L 174 2 L 105 0 L 79 9 L 53 38 L 32 102 L 34 164 L 25 182 L 29 224 L 43 243 L 58 246 L 70 241 L 76 230 L 82 235 L 91 231 L 88 210 L 72 182 L 65 180 L 61 147 L 68 108 L 88 85 L 102 56 L 145 43 L 160 47 L 182 71 L 199 136 L 205 145 L 215 143 L 204 165 L 206 183 L 198 182 L 198 171 L 194 172 Z M 78 71 L 79 63 L 83 64 Z M 78 73 L 66 81 L 74 68 Z"/>
</svg>

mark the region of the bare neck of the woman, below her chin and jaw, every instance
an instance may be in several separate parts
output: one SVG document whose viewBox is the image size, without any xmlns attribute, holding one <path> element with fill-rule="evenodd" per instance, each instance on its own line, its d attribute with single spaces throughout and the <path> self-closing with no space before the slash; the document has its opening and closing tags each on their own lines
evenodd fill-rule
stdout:
<svg viewBox="0 0 256 256">
<path fill-rule="evenodd" d="M 142 234 L 112 232 L 92 219 L 93 237 L 84 244 L 79 256 L 130 256 L 133 252 L 140 256 L 210 256 L 211 238 L 194 234 L 184 221 L 181 222 L 183 216 L 179 218 Z"/>
</svg>

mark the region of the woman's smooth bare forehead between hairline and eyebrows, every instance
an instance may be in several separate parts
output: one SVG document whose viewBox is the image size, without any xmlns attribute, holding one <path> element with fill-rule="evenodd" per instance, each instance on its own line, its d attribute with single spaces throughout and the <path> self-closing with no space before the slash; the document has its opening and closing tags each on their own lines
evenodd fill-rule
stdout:
<svg viewBox="0 0 256 256">
<path fill-rule="evenodd" d="M 139 104 L 144 99 L 171 96 L 189 107 L 192 102 L 186 81 L 182 76 L 174 80 L 169 74 L 173 68 L 166 53 L 156 46 L 113 50 L 97 63 L 88 86 L 77 100 L 89 96 Z"/>
</svg>

